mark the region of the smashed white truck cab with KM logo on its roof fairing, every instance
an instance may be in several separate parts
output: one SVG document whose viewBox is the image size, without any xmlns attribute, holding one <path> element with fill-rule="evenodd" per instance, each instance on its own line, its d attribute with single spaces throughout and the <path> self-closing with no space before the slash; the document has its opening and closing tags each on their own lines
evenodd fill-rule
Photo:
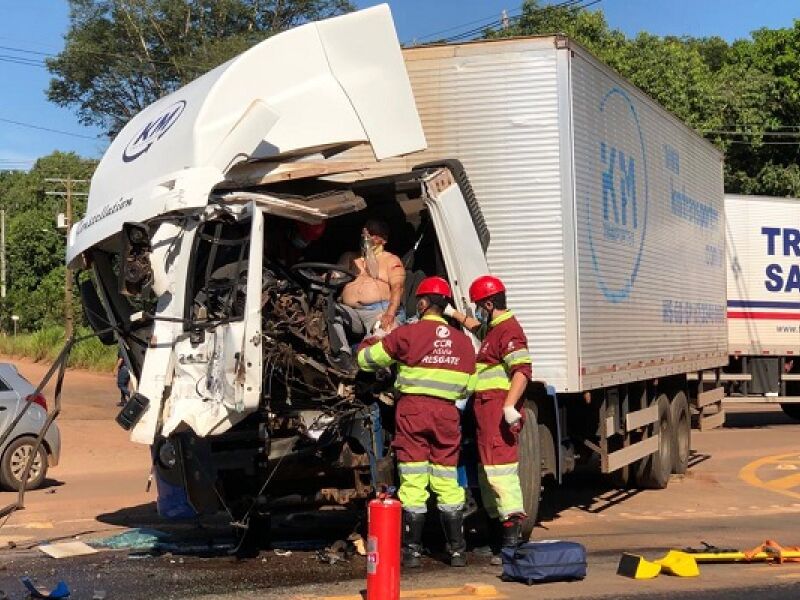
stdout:
<svg viewBox="0 0 800 600">
<path fill-rule="evenodd" d="M 326 160 L 357 145 L 373 160 L 425 147 L 386 6 L 260 43 L 134 117 L 98 165 L 68 261 L 91 275 L 87 319 L 130 366 L 117 420 L 152 447 L 162 514 L 241 522 L 392 482 L 389 378 L 332 360 L 353 278 L 337 261 L 382 218 L 408 298 L 445 274 L 437 237 L 481 222 L 457 163 L 375 177 Z M 302 253 L 298 223 L 326 226 Z"/>
</svg>

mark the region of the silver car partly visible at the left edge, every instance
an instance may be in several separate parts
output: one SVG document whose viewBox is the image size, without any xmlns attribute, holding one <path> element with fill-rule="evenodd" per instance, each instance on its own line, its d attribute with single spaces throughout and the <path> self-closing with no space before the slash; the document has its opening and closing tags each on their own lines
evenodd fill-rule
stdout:
<svg viewBox="0 0 800 600">
<path fill-rule="evenodd" d="M 25 399 L 36 388 L 9 363 L 0 363 L 0 435 L 25 406 Z M 28 457 L 33 451 L 36 436 L 44 424 L 47 401 L 41 394 L 33 398 L 30 408 L 0 446 L 0 488 L 18 490 Z M 53 423 L 31 465 L 27 489 L 36 489 L 47 476 L 47 469 L 58 464 L 61 454 L 61 434 Z"/>
</svg>

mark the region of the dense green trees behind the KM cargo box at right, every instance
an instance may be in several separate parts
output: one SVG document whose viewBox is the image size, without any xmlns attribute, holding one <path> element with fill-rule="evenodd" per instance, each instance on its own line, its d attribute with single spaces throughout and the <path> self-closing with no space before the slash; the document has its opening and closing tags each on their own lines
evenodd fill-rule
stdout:
<svg viewBox="0 0 800 600">
<path fill-rule="evenodd" d="M 800 20 L 728 44 L 611 29 L 602 11 L 526 0 L 487 37 L 563 33 L 725 152 L 729 192 L 800 196 Z"/>
</svg>

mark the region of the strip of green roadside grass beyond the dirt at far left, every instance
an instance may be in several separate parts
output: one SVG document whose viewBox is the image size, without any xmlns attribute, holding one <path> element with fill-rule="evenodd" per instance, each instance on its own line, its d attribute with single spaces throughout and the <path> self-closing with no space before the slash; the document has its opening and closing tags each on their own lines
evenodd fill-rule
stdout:
<svg viewBox="0 0 800 600">
<path fill-rule="evenodd" d="M 89 333 L 81 329 L 78 334 Z M 64 328 L 46 327 L 33 333 L 0 335 L 0 354 L 19 356 L 33 361 L 53 361 L 64 347 Z M 97 338 L 85 340 L 72 349 L 69 366 L 108 373 L 117 360 L 116 346 L 103 346 Z"/>
</svg>

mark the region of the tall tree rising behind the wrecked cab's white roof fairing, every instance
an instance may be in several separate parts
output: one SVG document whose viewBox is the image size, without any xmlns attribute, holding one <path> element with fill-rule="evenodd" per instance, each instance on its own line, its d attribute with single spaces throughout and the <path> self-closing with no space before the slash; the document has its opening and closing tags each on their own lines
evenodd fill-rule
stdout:
<svg viewBox="0 0 800 600">
<path fill-rule="evenodd" d="M 349 0 L 69 0 L 48 98 L 113 135 L 144 107 L 263 39 Z"/>
</svg>

